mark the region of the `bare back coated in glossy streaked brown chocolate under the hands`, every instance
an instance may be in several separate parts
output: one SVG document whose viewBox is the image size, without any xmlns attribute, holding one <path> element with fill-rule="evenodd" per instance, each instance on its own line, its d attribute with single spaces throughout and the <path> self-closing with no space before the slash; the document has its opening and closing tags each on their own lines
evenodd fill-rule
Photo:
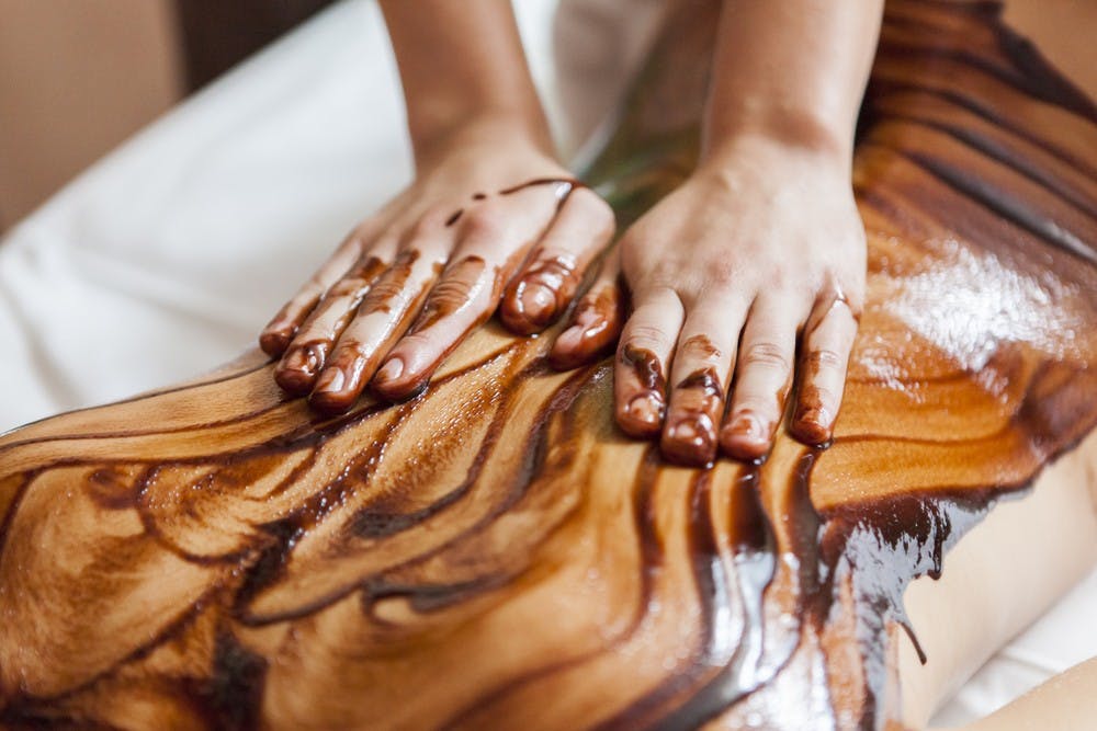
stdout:
<svg viewBox="0 0 1097 731">
<path fill-rule="evenodd" d="M 585 176 L 622 225 L 690 169 L 717 5 L 668 18 Z M 855 184 L 825 450 L 670 465 L 612 357 L 494 323 L 400 403 L 318 416 L 256 353 L 3 435 L 0 727 L 896 720 L 904 587 L 1097 424 L 1097 112 L 995 5 L 892 2 Z"/>
</svg>

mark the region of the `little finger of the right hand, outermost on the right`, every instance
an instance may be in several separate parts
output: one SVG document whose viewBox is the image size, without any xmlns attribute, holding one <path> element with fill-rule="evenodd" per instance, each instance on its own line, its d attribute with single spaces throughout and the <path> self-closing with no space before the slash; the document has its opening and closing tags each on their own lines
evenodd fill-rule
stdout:
<svg viewBox="0 0 1097 731">
<path fill-rule="evenodd" d="M 808 325 L 812 321 L 818 324 L 805 330 L 791 431 L 806 444 L 826 446 L 841 404 L 849 352 L 857 336 L 857 318 L 845 299 L 836 298 L 822 315 L 813 315 Z"/>
</svg>

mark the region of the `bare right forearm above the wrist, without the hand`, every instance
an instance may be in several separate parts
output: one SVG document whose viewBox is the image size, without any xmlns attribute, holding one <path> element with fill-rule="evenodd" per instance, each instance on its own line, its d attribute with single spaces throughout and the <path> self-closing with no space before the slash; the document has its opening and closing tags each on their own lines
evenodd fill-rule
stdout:
<svg viewBox="0 0 1097 731">
<path fill-rule="evenodd" d="M 724 0 L 703 160 L 744 136 L 848 164 L 880 33 L 882 0 Z"/>
</svg>

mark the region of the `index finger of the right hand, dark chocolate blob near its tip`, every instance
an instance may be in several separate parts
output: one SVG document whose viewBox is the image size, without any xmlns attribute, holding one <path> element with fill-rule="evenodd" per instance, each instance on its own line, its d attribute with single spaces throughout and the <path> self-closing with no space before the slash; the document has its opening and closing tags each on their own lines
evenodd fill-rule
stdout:
<svg viewBox="0 0 1097 731">
<path fill-rule="evenodd" d="M 618 424 L 625 434 L 654 437 L 666 414 L 667 366 L 685 310 L 670 288 L 637 293 L 636 309 L 624 325 L 613 372 Z"/>
</svg>

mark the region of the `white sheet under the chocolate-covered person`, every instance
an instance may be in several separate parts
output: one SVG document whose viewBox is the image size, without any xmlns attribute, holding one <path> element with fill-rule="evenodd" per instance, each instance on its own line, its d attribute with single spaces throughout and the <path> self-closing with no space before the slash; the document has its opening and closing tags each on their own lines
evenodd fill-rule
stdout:
<svg viewBox="0 0 1097 731">
<path fill-rule="evenodd" d="M 517 3 L 550 102 L 554 5 Z M 409 180 L 403 123 L 380 12 L 353 0 L 81 175 L 0 244 L 0 431 L 237 355 L 342 235 Z M 1097 655 L 1095 616 L 1097 572 L 936 720 L 989 712 Z"/>
</svg>

